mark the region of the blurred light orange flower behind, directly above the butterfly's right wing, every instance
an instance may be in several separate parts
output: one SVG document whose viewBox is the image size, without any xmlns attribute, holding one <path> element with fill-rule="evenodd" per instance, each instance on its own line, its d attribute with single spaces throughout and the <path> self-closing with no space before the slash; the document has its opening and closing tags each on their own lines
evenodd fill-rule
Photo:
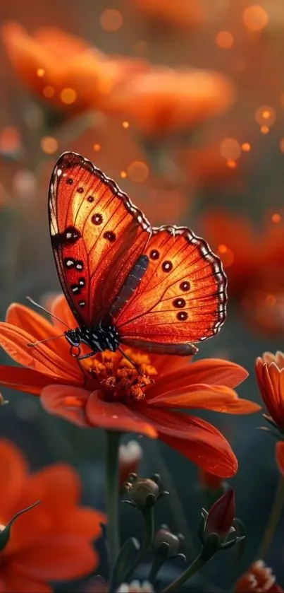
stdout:
<svg viewBox="0 0 284 593">
<path fill-rule="evenodd" d="M 233 84 L 222 74 L 156 67 L 117 86 L 108 109 L 123 113 L 151 137 L 192 129 L 225 111 L 233 99 Z"/>
</svg>

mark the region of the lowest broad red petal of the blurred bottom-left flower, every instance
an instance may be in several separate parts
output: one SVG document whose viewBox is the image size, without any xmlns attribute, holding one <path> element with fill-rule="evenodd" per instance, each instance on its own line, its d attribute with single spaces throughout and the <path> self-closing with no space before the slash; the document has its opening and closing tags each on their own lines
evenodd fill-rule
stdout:
<svg viewBox="0 0 284 593">
<path fill-rule="evenodd" d="M 77 579 L 99 563 L 92 546 L 70 534 L 46 536 L 37 545 L 20 550 L 14 561 L 19 570 L 25 571 L 28 566 L 29 574 L 42 580 Z"/>
</svg>

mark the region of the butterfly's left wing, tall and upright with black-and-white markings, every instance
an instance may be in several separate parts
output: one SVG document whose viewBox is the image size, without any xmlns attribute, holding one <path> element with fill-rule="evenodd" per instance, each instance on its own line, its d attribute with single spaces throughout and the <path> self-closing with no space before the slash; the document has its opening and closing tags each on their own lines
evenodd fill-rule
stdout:
<svg viewBox="0 0 284 593">
<path fill-rule="evenodd" d="M 92 163 L 63 153 L 49 187 L 51 245 L 78 324 L 106 315 L 152 232 L 146 218 Z"/>
</svg>

